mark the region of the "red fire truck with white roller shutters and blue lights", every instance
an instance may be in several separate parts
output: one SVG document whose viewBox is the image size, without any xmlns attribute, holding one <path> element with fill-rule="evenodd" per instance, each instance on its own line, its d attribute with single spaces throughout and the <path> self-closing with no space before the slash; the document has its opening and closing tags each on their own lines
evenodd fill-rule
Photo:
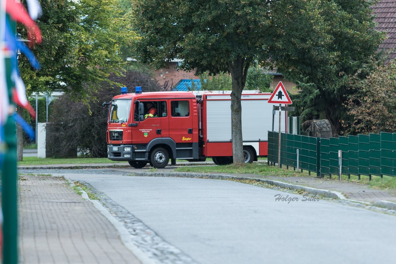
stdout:
<svg viewBox="0 0 396 264">
<path fill-rule="evenodd" d="M 231 91 L 168 91 L 127 93 L 115 96 L 109 107 L 107 156 L 128 161 L 134 168 L 147 163 L 163 168 L 178 160 L 232 163 Z M 271 93 L 242 93 L 242 137 L 245 162 L 267 156 L 272 129 Z M 105 104 L 105 103 L 104 103 Z M 155 111 L 152 110 L 155 108 Z M 150 110 L 151 109 L 151 110 Z M 153 117 L 147 115 L 152 112 Z M 274 127 L 279 126 L 276 111 Z M 287 112 L 281 128 L 286 131 Z M 278 116 L 278 117 L 277 117 Z"/>
</svg>

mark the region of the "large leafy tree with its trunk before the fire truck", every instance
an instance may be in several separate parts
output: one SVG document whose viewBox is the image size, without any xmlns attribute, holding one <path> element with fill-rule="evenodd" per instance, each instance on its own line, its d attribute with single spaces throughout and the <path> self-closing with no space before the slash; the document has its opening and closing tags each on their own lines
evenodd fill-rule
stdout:
<svg viewBox="0 0 396 264">
<path fill-rule="evenodd" d="M 134 24 L 143 37 L 138 58 L 161 68 L 175 57 L 180 68 L 197 74 L 229 73 L 232 78 L 232 150 L 234 163 L 243 163 L 241 94 L 247 70 L 268 59 L 275 27 L 274 1 L 250 0 L 133 0 Z"/>
</svg>

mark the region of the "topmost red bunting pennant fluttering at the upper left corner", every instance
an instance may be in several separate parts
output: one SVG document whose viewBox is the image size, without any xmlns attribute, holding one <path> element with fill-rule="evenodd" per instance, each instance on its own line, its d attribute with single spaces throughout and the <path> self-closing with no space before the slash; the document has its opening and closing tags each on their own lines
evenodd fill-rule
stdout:
<svg viewBox="0 0 396 264">
<path fill-rule="evenodd" d="M 27 27 L 27 36 L 31 41 L 29 46 L 33 46 L 34 40 L 38 44 L 41 43 L 41 31 L 38 25 L 30 18 L 29 13 L 26 8 L 21 3 L 15 2 L 15 0 L 6 0 L 6 12 L 11 16 L 11 18 L 19 23 L 22 23 Z"/>
</svg>

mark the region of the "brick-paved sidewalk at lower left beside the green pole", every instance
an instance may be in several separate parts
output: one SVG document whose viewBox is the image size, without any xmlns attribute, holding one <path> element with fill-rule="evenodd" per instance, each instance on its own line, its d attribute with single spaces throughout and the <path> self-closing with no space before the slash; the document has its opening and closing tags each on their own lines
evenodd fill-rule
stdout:
<svg viewBox="0 0 396 264">
<path fill-rule="evenodd" d="M 19 187 L 21 263 L 141 263 L 65 179 L 24 175 Z"/>
</svg>

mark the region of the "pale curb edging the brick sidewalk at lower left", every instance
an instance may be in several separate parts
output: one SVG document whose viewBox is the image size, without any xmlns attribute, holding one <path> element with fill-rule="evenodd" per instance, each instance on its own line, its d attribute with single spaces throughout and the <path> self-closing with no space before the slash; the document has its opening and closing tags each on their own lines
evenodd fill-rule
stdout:
<svg viewBox="0 0 396 264">
<path fill-rule="evenodd" d="M 69 179 L 69 178 L 66 178 L 66 179 L 69 180 L 69 182 L 71 182 L 70 183 L 71 187 L 76 186 L 72 179 Z M 149 258 L 143 251 L 141 251 L 141 249 L 139 249 L 133 243 L 128 230 L 125 228 L 125 226 L 121 222 L 119 222 L 114 216 L 112 216 L 109 213 L 109 211 L 101 203 L 99 203 L 99 201 L 89 199 L 88 194 L 84 190 L 82 190 L 82 188 L 79 188 L 79 189 L 80 189 L 80 192 L 82 192 L 81 197 L 86 200 L 91 201 L 91 203 L 93 203 L 93 205 L 95 205 L 96 209 L 104 217 L 106 217 L 107 220 L 109 220 L 109 222 L 114 226 L 114 228 L 117 230 L 118 234 L 120 235 L 120 239 L 121 239 L 122 243 L 124 244 L 124 246 L 127 249 L 129 249 L 129 251 L 131 251 L 132 254 L 135 255 L 136 258 L 138 260 L 140 260 L 140 262 L 142 262 L 142 264 L 155 264 L 156 263 L 154 260 Z"/>
</svg>

